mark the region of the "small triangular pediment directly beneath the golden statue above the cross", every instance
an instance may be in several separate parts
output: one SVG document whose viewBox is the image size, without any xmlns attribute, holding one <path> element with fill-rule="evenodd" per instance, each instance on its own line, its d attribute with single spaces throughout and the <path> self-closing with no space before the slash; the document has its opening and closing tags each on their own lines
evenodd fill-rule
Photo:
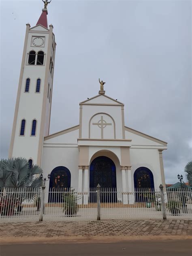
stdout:
<svg viewBox="0 0 192 256">
<path fill-rule="evenodd" d="M 124 106 L 124 104 L 122 102 L 119 102 L 107 95 L 104 94 L 98 94 L 90 99 L 84 100 L 82 102 L 79 103 L 79 105 L 120 105 L 120 106 Z"/>
</svg>

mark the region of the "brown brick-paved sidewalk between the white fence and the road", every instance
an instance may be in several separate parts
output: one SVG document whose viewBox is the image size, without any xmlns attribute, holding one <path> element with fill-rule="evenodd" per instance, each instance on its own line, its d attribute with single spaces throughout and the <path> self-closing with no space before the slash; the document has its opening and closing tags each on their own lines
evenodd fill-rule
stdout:
<svg viewBox="0 0 192 256">
<path fill-rule="evenodd" d="M 102 220 L 0 224 L 0 243 L 192 239 L 192 220 Z"/>
</svg>

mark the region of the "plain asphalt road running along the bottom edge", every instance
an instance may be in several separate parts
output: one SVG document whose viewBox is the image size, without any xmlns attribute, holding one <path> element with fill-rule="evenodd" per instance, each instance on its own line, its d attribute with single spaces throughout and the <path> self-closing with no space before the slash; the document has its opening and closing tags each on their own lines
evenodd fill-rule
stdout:
<svg viewBox="0 0 192 256">
<path fill-rule="evenodd" d="M 0 245 L 0 256 L 192 256 L 192 240 Z"/>
</svg>

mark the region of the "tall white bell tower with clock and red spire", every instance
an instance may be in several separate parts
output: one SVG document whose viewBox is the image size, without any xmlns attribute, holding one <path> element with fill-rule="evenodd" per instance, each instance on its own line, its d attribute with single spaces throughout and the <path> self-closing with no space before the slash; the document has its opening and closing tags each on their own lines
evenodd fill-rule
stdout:
<svg viewBox="0 0 192 256">
<path fill-rule="evenodd" d="M 44 137 L 49 135 L 56 46 L 53 25 L 47 26 L 48 3 L 36 26 L 26 24 L 9 149 L 9 158 L 24 157 L 40 166 Z"/>
</svg>

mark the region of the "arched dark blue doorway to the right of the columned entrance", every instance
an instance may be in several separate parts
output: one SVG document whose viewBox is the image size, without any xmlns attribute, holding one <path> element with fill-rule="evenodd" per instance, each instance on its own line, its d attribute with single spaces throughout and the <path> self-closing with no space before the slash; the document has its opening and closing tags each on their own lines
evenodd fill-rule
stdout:
<svg viewBox="0 0 192 256">
<path fill-rule="evenodd" d="M 153 173 L 146 167 L 139 167 L 134 172 L 134 188 L 136 192 L 140 191 L 154 191 L 154 176 Z M 136 201 L 145 201 L 143 198 L 143 193 L 136 193 Z"/>
</svg>

